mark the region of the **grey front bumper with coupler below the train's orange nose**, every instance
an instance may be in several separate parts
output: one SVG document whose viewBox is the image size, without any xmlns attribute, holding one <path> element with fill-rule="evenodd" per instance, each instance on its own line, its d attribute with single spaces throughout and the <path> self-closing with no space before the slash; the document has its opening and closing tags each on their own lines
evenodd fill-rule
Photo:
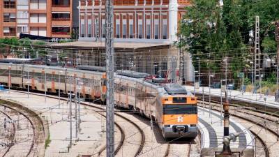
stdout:
<svg viewBox="0 0 279 157">
<path fill-rule="evenodd" d="M 163 126 L 163 136 L 165 138 L 186 137 L 195 138 L 197 136 L 197 126 Z"/>
</svg>

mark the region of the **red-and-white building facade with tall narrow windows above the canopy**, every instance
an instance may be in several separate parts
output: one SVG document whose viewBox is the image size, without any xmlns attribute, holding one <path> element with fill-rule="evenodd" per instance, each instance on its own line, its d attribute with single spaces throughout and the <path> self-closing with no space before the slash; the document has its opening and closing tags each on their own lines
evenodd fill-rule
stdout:
<svg viewBox="0 0 279 157">
<path fill-rule="evenodd" d="M 173 43 L 188 0 L 114 1 L 116 42 Z M 79 1 L 79 40 L 105 40 L 105 0 Z"/>
</svg>

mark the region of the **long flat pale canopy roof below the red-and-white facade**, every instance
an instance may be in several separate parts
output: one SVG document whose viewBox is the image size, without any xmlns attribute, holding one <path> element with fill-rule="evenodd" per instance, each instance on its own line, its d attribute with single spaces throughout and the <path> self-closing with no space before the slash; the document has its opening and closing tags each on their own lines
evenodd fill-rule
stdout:
<svg viewBox="0 0 279 157">
<path fill-rule="evenodd" d="M 170 43 L 114 43 L 115 49 L 141 49 L 146 47 L 169 47 Z M 55 43 L 50 45 L 44 45 L 45 47 L 52 48 L 72 48 L 72 49 L 92 49 L 100 48 L 105 49 L 105 42 L 93 42 L 93 41 L 74 41 L 68 43 Z"/>
</svg>

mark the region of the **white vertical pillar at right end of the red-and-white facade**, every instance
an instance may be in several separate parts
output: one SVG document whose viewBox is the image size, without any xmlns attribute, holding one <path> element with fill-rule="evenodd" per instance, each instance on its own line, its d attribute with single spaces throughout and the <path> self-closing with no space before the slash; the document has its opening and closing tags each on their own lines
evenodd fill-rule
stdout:
<svg viewBox="0 0 279 157">
<path fill-rule="evenodd" d="M 178 12 L 177 0 L 169 0 L 169 40 L 177 40 L 177 12 Z"/>
</svg>

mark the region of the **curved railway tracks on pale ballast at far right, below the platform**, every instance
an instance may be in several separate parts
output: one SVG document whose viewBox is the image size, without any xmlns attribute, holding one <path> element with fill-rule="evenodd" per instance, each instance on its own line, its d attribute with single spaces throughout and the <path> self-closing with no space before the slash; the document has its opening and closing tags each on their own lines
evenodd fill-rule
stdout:
<svg viewBox="0 0 279 157">
<path fill-rule="evenodd" d="M 206 107 L 208 109 L 216 110 L 220 112 L 222 107 L 220 108 L 220 104 L 218 103 L 211 103 L 209 106 L 208 102 L 205 102 L 203 105 L 198 104 L 200 107 Z M 241 109 L 241 110 L 239 110 Z M 234 110 L 235 112 L 230 112 L 233 117 L 240 119 L 240 123 L 249 128 L 249 130 L 254 133 L 255 137 L 262 143 L 264 146 L 264 156 L 266 157 L 277 157 L 279 147 L 278 139 L 278 120 L 277 117 L 273 117 L 273 114 L 263 114 L 263 112 L 257 112 L 257 110 L 251 111 L 250 108 L 240 107 L 238 105 L 232 105 L 231 111 Z M 237 112 L 236 112 L 237 111 Z M 264 130 L 265 133 L 262 133 Z M 266 132 L 269 132 L 268 137 Z"/>
</svg>

